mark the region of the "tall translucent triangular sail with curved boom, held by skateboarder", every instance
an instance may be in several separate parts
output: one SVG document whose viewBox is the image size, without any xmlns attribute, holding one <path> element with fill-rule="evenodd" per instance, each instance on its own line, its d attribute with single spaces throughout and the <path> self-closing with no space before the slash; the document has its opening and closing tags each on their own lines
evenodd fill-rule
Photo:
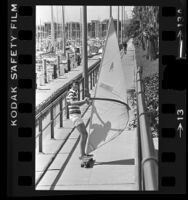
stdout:
<svg viewBox="0 0 188 200">
<path fill-rule="evenodd" d="M 111 141 L 128 123 L 127 88 L 113 18 L 99 69 L 88 130 L 87 153 Z"/>
</svg>

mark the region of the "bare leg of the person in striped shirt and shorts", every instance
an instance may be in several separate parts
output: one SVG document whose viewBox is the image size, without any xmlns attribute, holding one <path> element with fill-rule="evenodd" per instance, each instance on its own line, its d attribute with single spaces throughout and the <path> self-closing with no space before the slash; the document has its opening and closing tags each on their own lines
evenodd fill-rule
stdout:
<svg viewBox="0 0 188 200">
<path fill-rule="evenodd" d="M 81 153 L 81 156 L 84 156 L 86 154 L 85 148 L 86 148 L 86 142 L 87 142 L 87 136 L 88 136 L 87 130 L 86 130 L 85 124 L 79 124 L 76 128 L 79 131 L 80 136 L 81 136 L 80 153 Z"/>
</svg>

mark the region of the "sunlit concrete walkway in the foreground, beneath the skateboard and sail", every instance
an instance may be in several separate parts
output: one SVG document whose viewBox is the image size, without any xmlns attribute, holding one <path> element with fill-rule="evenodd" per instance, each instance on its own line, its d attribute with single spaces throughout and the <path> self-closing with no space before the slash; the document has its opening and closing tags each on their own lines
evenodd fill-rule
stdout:
<svg viewBox="0 0 188 200">
<path fill-rule="evenodd" d="M 77 130 L 73 134 L 78 135 Z M 136 129 L 124 131 L 94 152 L 92 168 L 81 168 L 79 143 L 69 139 L 69 148 L 76 148 L 67 164 L 68 147 L 64 147 L 36 190 L 138 190 L 136 140 Z"/>
</svg>

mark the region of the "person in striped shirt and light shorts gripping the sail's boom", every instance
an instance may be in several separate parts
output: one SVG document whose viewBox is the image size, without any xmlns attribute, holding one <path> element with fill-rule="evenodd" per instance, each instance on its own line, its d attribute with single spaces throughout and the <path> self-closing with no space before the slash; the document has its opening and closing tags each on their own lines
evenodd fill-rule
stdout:
<svg viewBox="0 0 188 200">
<path fill-rule="evenodd" d="M 86 126 L 84 124 L 83 119 L 81 118 L 81 110 L 80 106 L 87 103 L 90 104 L 91 101 L 88 97 L 86 97 L 84 100 L 79 101 L 78 100 L 78 82 L 76 80 L 73 81 L 71 89 L 68 91 L 66 96 L 66 101 L 68 104 L 68 111 L 69 111 L 69 118 L 73 122 L 74 126 L 77 128 L 77 130 L 80 133 L 81 141 L 80 141 L 80 157 L 79 159 L 82 159 L 84 156 L 92 156 L 86 154 L 85 148 L 86 148 L 86 142 L 88 138 L 88 133 L 86 130 Z"/>
</svg>

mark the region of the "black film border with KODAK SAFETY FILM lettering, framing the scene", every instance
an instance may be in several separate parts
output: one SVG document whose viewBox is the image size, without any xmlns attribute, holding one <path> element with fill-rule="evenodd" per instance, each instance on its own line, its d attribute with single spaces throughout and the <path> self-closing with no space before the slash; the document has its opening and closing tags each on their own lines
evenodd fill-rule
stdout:
<svg viewBox="0 0 188 200">
<path fill-rule="evenodd" d="M 122 5 L 123 5 L 123 1 Z M 119 4 L 121 4 L 119 2 Z M 12 42 L 15 42 L 15 50 L 17 51 L 17 71 L 10 68 L 8 63 L 8 75 L 13 74 L 14 80 L 8 79 L 8 95 L 9 99 L 15 101 L 15 108 L 11 109 L 8 105 L 8 193 L 16 196 L 37 196 L 37 195 L 61 195 L 69 194 L 71 191 L 35 191 L 34 187 L 34 167 L 35 167 L 35 4 L 50 5 L 52 1 L 9 1 L 9 26 L 15 23 L 17 29 L 9 31 L 9 41 L 11 34 L 14 34 Z M 64 5 L 74 5 L 70 1 L 63 1 Z M 17 8 L 11 12 L 11 4 L 17 4 Z M 59 5 L 60 1 L 54 0 L 53 5 Z M 86 2 L 87 4 L 87 2 Z M 109 2 L 103 2 L 101 5 Z M 87 5 L 90 5 L 89 3 Z M 94 5 L 94 4 L 93 4 Z M 100 5 L 97 3 L 96 5 Z M 116 4 L 113 4 L 116 5 Z M 159 136 L 159 191 L 154 192 L 117 192 L 125 194 L 148 194 L 148 193 L 185 193 L 185 169 L 186 169 L 186 127 L 185 127 L 185 90 L 178 90 L 173 87 L 172 80 L 169 81 L 165 76 L 165 71 L 170 73 L 173 68 L 178 70 L 176 66 L 172 67 L 173 61 L 178 57 L 177 53 L 177 10 L 179 9 L 178 1 L 159 0 L 159 1 L 130 1 L 126 5 L 158 5 L 160 6 L 160 136 Z M 168 11 L 167 11 L 168 10 Z M 167 15 L 166 13 L 170 13 Z M 17 16 L 16 16 L 17 15 Z M 168 24 L 168 26 L 167 26 Z M 14 26 L 14 25 L 13 25 Z M 28 48 L 29 47 L 29 48 Z M 9 60 L 11 48 L 8 48 Z M 14 52 L 15 53 L 15 52 Z M 13 54 L 14 54 L 13 53 Z M 179 66 L 178 66 L 179 67 Z M 16 69 L 15 69 L 16 70 Z M 180 74 L 180 72 L 178 73 Z M 16 77 L 17 76 L 17 77 Z M 12 89 L 11 89 L 12 87 Z M 31 95 L 33 94 L 33 95 Z M 16 96 L 15 96 L 16 95 Z M 12 98 L 11 98 L 12 97 Z M 17 99 L 16 99 L 17 98 Z M 11 102 L 14 102 L 14 101 Z M 17 107 L 16 107 L 17 104 Z M 183 110 L 183 112 L 182 112 Z M 15 111 L 17 126 L 10 126 L 11 112 Z M 17 112 L 17 113 L 16 113 Z M 184 131 L 181 139 L 177 135 L 177 118 L 182 115 Z M 180 117 L 180 116 L 179 116 Z M 14 116 L 12 116 L 14 118 Z M 82 193 L 81 191 L 75 194 Z M 104 193 L 104 192 L 101 192 Z M 110 193 L 110 192 L 108 192 Z M 115 192 L 113 192 L 115 193 Z"/>
</svg>

